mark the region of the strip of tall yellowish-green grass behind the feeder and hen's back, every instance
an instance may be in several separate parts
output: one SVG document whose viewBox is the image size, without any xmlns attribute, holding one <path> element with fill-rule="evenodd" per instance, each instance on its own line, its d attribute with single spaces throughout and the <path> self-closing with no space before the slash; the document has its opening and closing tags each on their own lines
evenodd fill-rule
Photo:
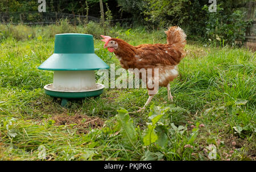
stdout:
<svg viewBox="0 0 256 172">
<path fill-rule="evenodd" d="M 133 37 L 141 37 L 139 42 L 143 44 L 148 39 L 152 40 L 152 44 L 155 44 L 159 41 L 163 41 L 163 38 L 166 38 L 164 30 L 153 31 L 152 34 L 148 35 L 149 31 L 146 31 L 145 28 L 122 28 L 119 24 L 106 25 L 106 35 L 112 37 L 121 37 L 125 40 L 129 40 L 130 44 L 138 43 L 138 40 L 135 40 Z M 33 38 L 54 38 L 56 34 L 59 33 L 86 33 L 93 35 L 94 38 L 101 38 L 100 35 L 104 34 L 104 28 L 100 23 L 90 21 L 89 23 L 72 25 L 67 19 L 61 19 L 57 21 L 56 24 L 50 25 L 24 25 L 24 24 L 0 24 L 0 41 L 5 40 L 6 38 L 14 38 L 17 41 L 32 40 Z M 164 43 L 165 41 L 163 41 Z"/>
</svg>

